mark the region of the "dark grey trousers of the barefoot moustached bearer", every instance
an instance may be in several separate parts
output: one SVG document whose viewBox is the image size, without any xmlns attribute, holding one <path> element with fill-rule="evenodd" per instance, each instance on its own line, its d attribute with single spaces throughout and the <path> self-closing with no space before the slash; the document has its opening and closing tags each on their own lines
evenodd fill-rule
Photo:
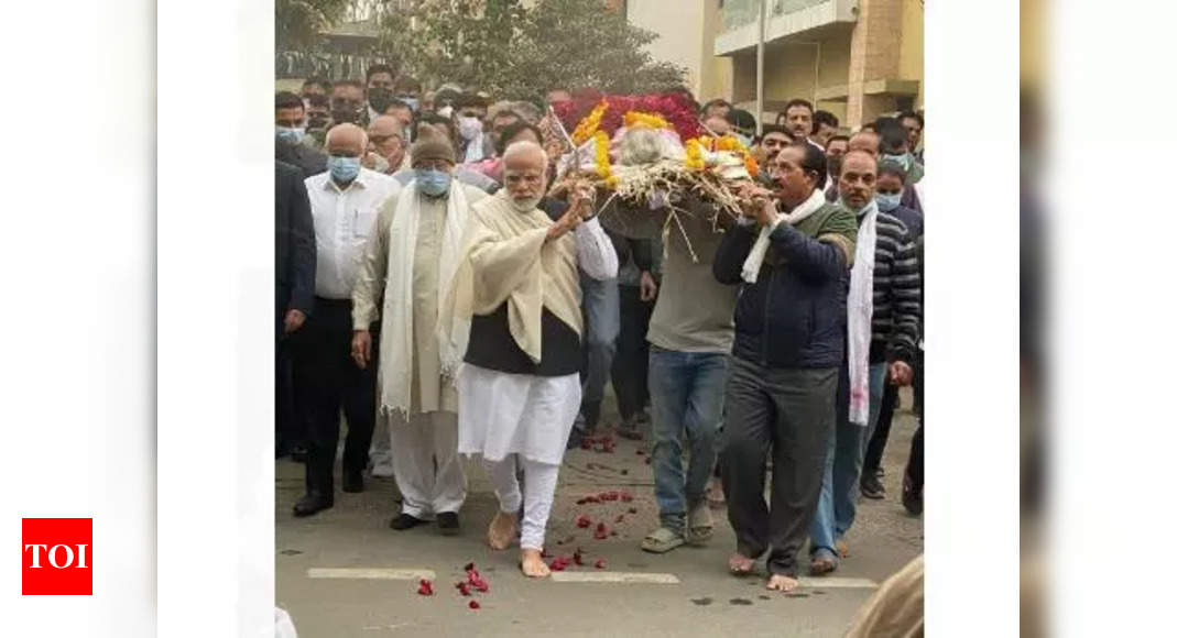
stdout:
<svg viewBox="0 0 1177 638">
<path fill-rule="evenodd" d="M 720 464 L 742 556 L 769 551 L 769 572 L 797 575 L 833 432 L 838 368 L 773 369 L 732 357 Z M 771 508 L 764 502 L 772 454 Z"/>
</svg>

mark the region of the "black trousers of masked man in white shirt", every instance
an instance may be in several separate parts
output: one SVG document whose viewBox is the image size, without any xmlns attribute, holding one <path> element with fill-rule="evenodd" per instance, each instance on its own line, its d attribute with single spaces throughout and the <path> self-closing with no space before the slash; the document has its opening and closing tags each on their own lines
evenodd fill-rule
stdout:
<svg viewBox="0 0 1177 638">
<path fill-rule="evenodd" d="M 325 298 L 315 298 L 314 313 L 297 334 L 297 385 L 307 434 L 306 489 L 331 497 L 340 409 L 347 417 L 344 471 L 367 466 L 375 427 L 375 355 L 380 338 L 372 333 L 373 361 L 361 370 L 351 356 L 351 301 Z"/>
</svg>

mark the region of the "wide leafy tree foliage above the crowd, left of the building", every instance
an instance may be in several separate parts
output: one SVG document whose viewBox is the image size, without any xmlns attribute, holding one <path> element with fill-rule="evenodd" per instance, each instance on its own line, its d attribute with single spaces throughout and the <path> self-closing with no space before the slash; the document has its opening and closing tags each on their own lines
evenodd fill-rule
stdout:
<svg viewBox="0 0 1177 638">
<path fill-rule="evenodd" d="M 601 0 L 418 0 L 383 15 L 380 48 L 427 85 L 537 100 L 554 87 L 647 93 L 684 81 L 644 49 L 654 33 Z"/>
</svg>

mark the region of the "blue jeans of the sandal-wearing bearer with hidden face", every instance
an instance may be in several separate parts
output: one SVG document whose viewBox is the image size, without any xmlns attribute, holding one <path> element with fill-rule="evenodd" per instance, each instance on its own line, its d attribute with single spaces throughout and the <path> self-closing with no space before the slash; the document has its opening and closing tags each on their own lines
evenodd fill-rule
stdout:
<svg viewBox="0 0 1177 638">
<path fill-rule="evenodd" d="M 703 501 L 716 465 L 729 365 L 726 352 L 678 352 L 650 347 L 654 498 L 661 524 L 679 533 L 689 508 Z M 691 450 L 685 475 L 684 434 Z"/>
</svg>

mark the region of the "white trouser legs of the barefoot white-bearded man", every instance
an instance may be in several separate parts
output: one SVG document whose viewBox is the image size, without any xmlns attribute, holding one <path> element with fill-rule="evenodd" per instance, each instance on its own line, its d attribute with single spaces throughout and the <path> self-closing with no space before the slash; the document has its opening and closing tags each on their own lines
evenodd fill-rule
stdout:
<svg viewBox="0 0 1177 638">
<path fill-rule="evenodd" d="M 519 464 L 523 465 L 526 498 L 519 491 L 519 479 L 516 474 Z M 552 513 L 560 466 L 531 461 L 519 455 L 508 455 L 503 461 L 484 458 L 483 466 L 494 484 L 494 495 L 499 497 L 499 510 L 518 513 L 519 504 L 524 505 L 519 546 L 525 550 L 543 550 L 544 532 L 547 529 L 547 517 Z"/>
</svg>

